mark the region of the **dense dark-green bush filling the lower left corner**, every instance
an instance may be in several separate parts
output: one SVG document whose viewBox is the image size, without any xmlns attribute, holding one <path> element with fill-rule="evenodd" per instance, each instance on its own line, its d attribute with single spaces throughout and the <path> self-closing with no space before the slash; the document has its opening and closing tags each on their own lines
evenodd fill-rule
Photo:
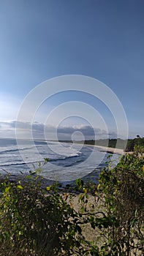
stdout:
<svg viewBox="0 0 144 256">
<path fill-rule="evenodd" d="M 80 245 L 77 215 L 57 192 L 47 195 L 36 182 L 4 181 L 1 189 L 1 256 L 71 255 Z"/>
</svg>

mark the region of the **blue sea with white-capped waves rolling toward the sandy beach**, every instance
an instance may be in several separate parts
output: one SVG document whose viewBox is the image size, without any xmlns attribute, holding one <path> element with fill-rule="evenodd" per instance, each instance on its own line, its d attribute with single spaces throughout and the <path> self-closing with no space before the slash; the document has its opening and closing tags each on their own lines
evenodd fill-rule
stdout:
<svg viewBox="0 0 144 256">
<path fill-rule="evenodd" d="M 98 181 L 99 172 L 107 162 L 107 152 L 94 146 L 42 140 L 0 139 L 0 173 L 18 176 L 42 165 L 43 176 L 51 181 L 70 184 L 77 178 Z M 45 158 L 49 161 L 45 163 Z M 115 164 L 119 156 L 113 155 Z"/>
</svg>

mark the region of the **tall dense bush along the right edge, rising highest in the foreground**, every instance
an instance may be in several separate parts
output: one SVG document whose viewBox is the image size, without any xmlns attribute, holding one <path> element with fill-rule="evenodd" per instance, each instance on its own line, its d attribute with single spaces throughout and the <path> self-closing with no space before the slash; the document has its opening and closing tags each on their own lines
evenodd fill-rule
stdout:
<svg viewBox="0 0 144 256">
<path fill-rule="evenodd" d="M 143 255 L 144 149 L 134 148 L 114 168 L 102 170 L 99 184 L 105 214 L 111 220 L 105 239 L 107 255 Z"/>
</svg>

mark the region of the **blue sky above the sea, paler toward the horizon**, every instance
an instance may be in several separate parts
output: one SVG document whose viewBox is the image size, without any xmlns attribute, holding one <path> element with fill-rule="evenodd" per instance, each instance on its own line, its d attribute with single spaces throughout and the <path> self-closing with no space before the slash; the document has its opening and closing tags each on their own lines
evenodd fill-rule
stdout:
<svg viewBox="0 0 144 256">
<path fill-rule="evenodd" d="M 144 137 L 143 0 L 1 0 L 0 56 L 0 138 L 15 137 L 17 120 L 20 135 L 29 137 L 29 111 L 37 99 L 21 120 L 23 100 L 39 84 L 64 75 L 108 86 L 124 108 L 129 138 Z M 105 102 L 81 90 L 72 91 L 67 83 L 61 92 L 59 83 L 58 93 L 37 106 L 35 138 L 43 138 L 45 124 L 51 139 L 56 127 L 60 139 L 93 139 L 94 132 L 97 139 L 124 138 L 122 122 L 118 134 Z M 60 110 L 67 110 L 66 116 Z"/>
</svg>

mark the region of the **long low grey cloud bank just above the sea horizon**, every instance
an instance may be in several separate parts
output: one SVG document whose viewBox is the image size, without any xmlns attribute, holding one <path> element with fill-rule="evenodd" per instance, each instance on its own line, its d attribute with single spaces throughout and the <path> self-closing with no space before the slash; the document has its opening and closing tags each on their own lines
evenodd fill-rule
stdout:
<svg viewBox="0 0 144 256">
<path fill-rule="evenodd" d="M 17 129 L 17 130 L 16 130 Z M 15 138 L 17 131 L 18 138 L 26 139 L 32 132 L 34 139 L 54 140 L 96 140 L 101 138 L 116 138 L 115 132 L 107 132 L 103 129 L 81 126 L 51 126 L 34 122 L 32 125 L 23 121 L 0 121 L 0 138 Z M 75 136 L 74 136 L 75 135 Z"/>
</svg>

